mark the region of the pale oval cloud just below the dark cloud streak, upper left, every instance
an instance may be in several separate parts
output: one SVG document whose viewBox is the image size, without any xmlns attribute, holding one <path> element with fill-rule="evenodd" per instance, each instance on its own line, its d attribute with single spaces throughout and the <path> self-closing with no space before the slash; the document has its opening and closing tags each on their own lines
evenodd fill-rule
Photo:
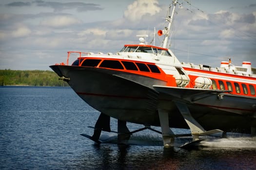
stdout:
<svg viewBox="0 0 256 170">
<path fill-rule="evenodd" d="M 79 24 L 81 21 L 75 17 L 71 16 L 55 16 L 44 19 L 40 22 L 40 25 L 47 27 L 66 27 L 73 24 Z"/>
</svg>

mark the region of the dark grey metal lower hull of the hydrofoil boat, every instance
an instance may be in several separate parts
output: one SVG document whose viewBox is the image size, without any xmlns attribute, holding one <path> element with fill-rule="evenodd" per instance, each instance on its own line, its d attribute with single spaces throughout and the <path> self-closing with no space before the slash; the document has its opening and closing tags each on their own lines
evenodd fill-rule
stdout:
<svg viewBox="0 0 256 170">
<path fill-rule="evenodd" d="M 175 96 L 159 94 L 153 85 L 166 82 L 122 71 L 76 66 L 51 66 L 61 77 L 70 78 L 68 84 L 89 105 L 98 111 L 124 121 L 160 126 L 158 109 L 169 111 L 170 127 L 188 128 L 178 111 Z M 180 92 L 179 92 L 180 93 Z M 250 133 L 256 126 L 255 99 L 225 94 L 209 95 L 187 103 L 191 115 L 205 130 Z M 191 104 L 193 102 L 193 104 Z M 249 108 L 249 109 L 244 109 Z"/>
</svg>

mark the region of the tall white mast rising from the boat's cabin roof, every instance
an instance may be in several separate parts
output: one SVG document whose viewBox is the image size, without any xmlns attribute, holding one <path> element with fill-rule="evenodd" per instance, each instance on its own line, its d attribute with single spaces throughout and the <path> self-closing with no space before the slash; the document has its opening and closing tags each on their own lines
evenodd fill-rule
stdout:
<svg viewBox="0 0 256 170">
<path fill-rule="evenodd" d="M 171 33 L 170 29 L 171 29 L 171 26 L 172 26 L 172 21 L 173 21 L 173 16 L 174 16 L 176 4 L 177 4 L 177 0 L 173 0 L 173 5 L 174 6 L 173 6 L 172 15 L 171 16 L 167 16 L 165 18 L 166 21 L 169 22 L 169 24 L 168 24 L 168 27 L 165 27 L 164 30 L 162 31 L 163 34 L 165 35 L 164 40 L 163 40 L 163 48 L 168 48 L 168 46 L 169 46 L 169 44 L 167 46 L 167 42 L 168 42 L 169 37 L 171 36 L 170 35 L 170 33 Z"/>
</svg>

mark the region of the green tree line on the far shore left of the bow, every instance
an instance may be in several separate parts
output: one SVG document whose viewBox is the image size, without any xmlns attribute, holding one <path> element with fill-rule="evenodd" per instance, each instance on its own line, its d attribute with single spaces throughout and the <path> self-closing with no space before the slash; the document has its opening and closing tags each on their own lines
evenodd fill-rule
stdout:
<svg viewBox="0 0 256 170">
<path fill-rule="evenodd" d="M 49 70 L 0 70 L 0 85 L 69 86 Z"/>
</svg>

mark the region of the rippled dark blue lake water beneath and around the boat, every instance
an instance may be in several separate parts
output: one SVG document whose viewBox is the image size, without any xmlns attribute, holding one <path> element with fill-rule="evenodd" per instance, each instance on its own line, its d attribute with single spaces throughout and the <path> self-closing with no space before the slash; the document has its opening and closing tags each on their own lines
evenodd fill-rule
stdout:
<svg viewBox="0 0 256 170">
<path fill-rule="evenodd" d="M 181 139 L 163 148 L 147 130 L 133 136 L 137 145 L 96 145 L 80 134 L 92 135 L 88 126 L 98 116 L 70 87 L 0 87 L 0 169 L 256 170 L 256 138 L 217 139 L 188 151 L 178 147 Z M 111 128 L 117 130 L 115 119 Z"/>
</svg>

